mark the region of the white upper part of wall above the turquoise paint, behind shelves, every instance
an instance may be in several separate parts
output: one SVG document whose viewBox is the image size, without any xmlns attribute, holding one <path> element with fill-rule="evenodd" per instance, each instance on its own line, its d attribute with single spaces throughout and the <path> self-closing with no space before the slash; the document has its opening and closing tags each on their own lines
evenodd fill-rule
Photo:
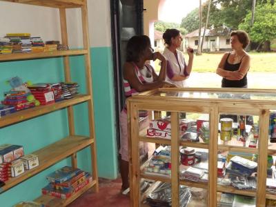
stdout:
<svg viewBox="0 0 276 207">
<path fill-rule="evenodd" d="M 81 10 L 68 9 L 69 46 L 80 47 L 82 43 Z M 88 0 L 90 46 L 110 47 L 110 1 Z M 0 37 L 10 32 L 28 32 L 40 36 L 43 41 L 61 40 L 59 10 L 41 6 L 0 1 Z"/>
</svg>

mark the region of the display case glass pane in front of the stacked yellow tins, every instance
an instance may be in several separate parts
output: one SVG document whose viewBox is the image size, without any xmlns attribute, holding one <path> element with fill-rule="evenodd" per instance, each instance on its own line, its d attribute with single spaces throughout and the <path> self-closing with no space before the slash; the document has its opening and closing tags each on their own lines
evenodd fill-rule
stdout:
<svg viewBox="0 0 276 207">
<path fill-rule="evenodd" d="M 258 116 L 220 114 L 218 144 L 257 148 L 258 123 Z"/>
</svg>

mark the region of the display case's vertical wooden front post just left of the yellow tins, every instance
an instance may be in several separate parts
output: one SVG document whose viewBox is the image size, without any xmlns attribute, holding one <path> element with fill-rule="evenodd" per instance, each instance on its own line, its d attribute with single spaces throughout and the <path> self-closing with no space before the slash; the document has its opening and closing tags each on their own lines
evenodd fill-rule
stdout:
<svg viewBox="0 0 276 207">
<path fill-rule="evenodd" d="M 219 126 L 218 107 L 210 108 L 210 138 L 209 138 L 209 182 L 208 182 L 208 206 L 217 206 L 217 133 Z"/>
</svg>

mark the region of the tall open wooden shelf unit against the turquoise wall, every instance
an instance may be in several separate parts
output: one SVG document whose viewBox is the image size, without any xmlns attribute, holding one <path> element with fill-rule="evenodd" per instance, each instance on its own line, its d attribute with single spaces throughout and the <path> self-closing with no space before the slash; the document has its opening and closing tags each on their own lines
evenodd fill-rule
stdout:
<svg viewBox="0 0 276 207">
<path fill-rule="evenodd" d="M 16 186 L 17 184 L 29 179 L 33 175 L 45 170 L 46 168 L 56 164 L 66 157 L 71 157 L 72 167 L 77 168 L 77 152 L 83 148 L 89 147 L 91 153 L 91 166 L 92 166 L 92 182 L 87 186 L 81 188 L 79 192 L 72 195 L 69 199 L 57 199 L 55 197 L 42 195 L 37 198 L 41 204 L 50 204 L 50 206 L 66 206 L 72 201 L 77 199 L 89 188 L 92 188 L 94 192 L 99 191 L 99 182 L 97 174 L 97 151 L 96 151 L 96 140 L 95 140 L 95 121 L 94 121 L 94 109 L 92 99 L 92 79 L 91 79 L 91 63 L 90 63 L 90 44 L 89 44 L 89 33 L 88 33 L 88 8 L 86 0 L 0 0 L 8 1 L 10 3 L 24 3 L 34 6 L 45 6 L 59 9 L 59 17 L 61 24 L 61 43 L 68 45 L 68 32 L 66 23 L 66 8 L 80 8 L 81 9 L 81 23 L 83 33 L 83 49 L 82 50 L 57 50 L 49 52 L 30 52 L 26 54 L 10 54 L 0 55 L 0 64 L 5 61 L 19 61 L 29 59 L 44 59 L 52 57 L 63 57 L 64 76 L 65 81 L 72 81 L 70 75 L 70 63 L 69 57 L 75 55 L 83 55 L 84 57 L 84 72 L 86 77 L 86 95 L 77 95 L 76 97 L 68 100 L 63 100 L 57 103 L 52 103 L 46 106 L 38 106 L 29 108 L 20 112 L 16 112 L 12 115 L 0 118 L 0 128 L 16 124 L 20 121 L 27 121 L 33 117 L 45 115 L 49 112 L 54 112 L 61 108 L 67 108 L 68 113 L 68 126 L 69 136 L 53 144 L 45 146 L 35 152 L 35 155 L 39 157 L 39 166 L 32 170 L 26 170 L 22 175 L 14 177 L 6 181 L 6 185 L 0 188 L 0 193 Z M 39 71 L 41 72 L 41 71 Z M 75 121 L 73 106 L 78 103 L 86 102 L 88 106 L 88 126 L 90 135 L 88 137 L 82 137 L 75 133 Z M 28 146 L 24 146 L 28 148 Z M 39 186 L 38 188 L 42 188 Z"/>
</svg>

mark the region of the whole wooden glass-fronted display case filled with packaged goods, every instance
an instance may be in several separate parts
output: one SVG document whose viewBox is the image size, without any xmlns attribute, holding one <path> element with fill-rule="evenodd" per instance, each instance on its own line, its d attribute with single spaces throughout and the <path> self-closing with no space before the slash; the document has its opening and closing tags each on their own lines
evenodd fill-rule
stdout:
<svg viewBox="0 0 276 207">
<path fill-rule="evenodd" d="M 161 88 L 127 106 L 131 206 L 275 204 L 275 90 Z"/>
</svg>

